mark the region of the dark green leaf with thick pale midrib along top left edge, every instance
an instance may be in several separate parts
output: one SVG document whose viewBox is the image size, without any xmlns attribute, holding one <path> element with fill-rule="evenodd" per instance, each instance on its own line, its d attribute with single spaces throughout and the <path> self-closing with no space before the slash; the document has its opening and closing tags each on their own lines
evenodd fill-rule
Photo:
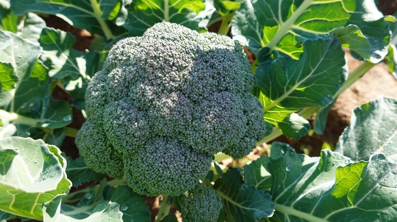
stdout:
<svg viewBox="0 0 397 222">
<path fill-rule="evenodd" d="M 106 36 L 106 39 L 115 39 L 114 33 L 122 32 L 106 21 L 112 19 L 118 9 L 119 1 L 104 1 L 100 4 L 97 0 L 11 0 L 11 10 L 17 15 L 32 11 L 56 15 L 76 28 Z"/>
</svg>

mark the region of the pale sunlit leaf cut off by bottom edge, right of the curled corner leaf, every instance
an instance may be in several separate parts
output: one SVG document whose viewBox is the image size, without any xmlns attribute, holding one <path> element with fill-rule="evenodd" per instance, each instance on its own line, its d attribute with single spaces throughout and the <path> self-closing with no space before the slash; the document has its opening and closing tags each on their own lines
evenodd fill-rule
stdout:
<svg viewBox="0 0 397 222">
<path fill-rule="evenodd" d="M 86 211 L 83 211 L 81 208 L 74 208 L 72 206 L 70 206 L 70 208 L 66 208 L 67 206 L 68 205 L 61 203 L 61 198 L 45 204 L 43 206 L 44 221 L 123 221 L 123 213 L 119 210 L 120 205 L 118 203 L 104 202 L 96 205 L 94 208 L 86 208 Z M 75 212 L 73 212 L 73 210 L 70 211 L 70 209 L 75 210 Z M 75 218 L 73 213 L 85 213 L 87 216 L 84 218 Z"/>
</svg>

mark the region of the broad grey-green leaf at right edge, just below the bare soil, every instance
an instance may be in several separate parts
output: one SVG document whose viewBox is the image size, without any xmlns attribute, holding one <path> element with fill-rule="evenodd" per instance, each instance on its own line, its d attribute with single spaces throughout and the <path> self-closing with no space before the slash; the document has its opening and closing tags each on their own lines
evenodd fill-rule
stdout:
<svg viewBox="0 0 397 222">
<path fill-rule="evenodd" d="M 383 153 L 397 161 L 397 100 L 379 97 L 353 110 L 335 151 L 355 161 Z"/>
</svg>

